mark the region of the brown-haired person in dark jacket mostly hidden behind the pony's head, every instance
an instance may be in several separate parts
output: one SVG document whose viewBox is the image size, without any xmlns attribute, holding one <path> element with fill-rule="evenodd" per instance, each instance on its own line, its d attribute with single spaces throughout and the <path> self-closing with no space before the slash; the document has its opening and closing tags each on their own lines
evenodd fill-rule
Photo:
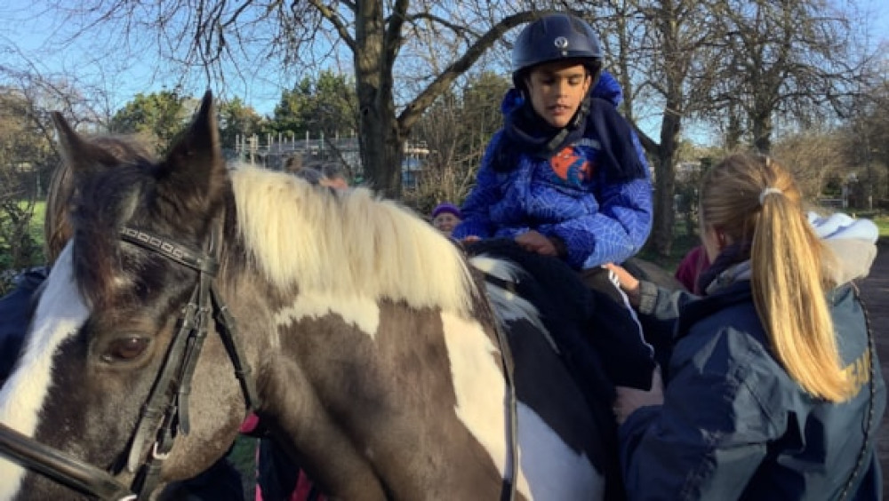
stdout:
<svg viewBox="0 0 889 501">
<path fill-rule="evenodd" d="M 147 166 L 153 164 L 148 150 L 135 139 L 96 137 L 90 139 L 90 142 L 92 147 L 99 148 L 108 155 L 107 162 L 96 168 L 107 168 L 108 165 L 118 163 L 142 163 Z M 5 381 L 12 373 L 36 305 L 36 294 L 49 274 L 53 261 L 71 238 L 68 210 L 75 196 L 74 192 L 74 173 L 70 163 L 63 161 L 52 175 L 46 197 L 44 254 L 48 264 L 20 274 L 16 278 L 15 289 L 0 298 L 0 381 Z M 162 498 L 183 501 L 243 501 L 244 488 L 241 474 L 226 457 L 222 457 L 195 478 L 171 484 Z"/>
</svg>

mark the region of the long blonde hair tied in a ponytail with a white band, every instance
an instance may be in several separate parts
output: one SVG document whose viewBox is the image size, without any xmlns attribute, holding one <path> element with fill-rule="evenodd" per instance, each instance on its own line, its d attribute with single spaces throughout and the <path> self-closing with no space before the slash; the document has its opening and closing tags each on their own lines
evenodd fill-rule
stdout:
<svg viewBox="0 0 889 501">
<path fill-rule="evenodd" d="M 706 224 L 751 242 L 753 301 L 773 354 L 805 392 L 843 402 L 854 391 L 844 372 L 830 317 L 824 267 L 829 250 L 805 219 L 801 196 L 780 164 L 732 155 L 701 190 Z"/>
</svg>

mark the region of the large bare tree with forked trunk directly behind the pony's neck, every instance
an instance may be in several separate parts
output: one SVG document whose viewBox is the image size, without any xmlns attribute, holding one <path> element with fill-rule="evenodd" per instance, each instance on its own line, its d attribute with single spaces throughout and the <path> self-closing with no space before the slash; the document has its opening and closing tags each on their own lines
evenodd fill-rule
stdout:
<svg viewBox="0 0 889 501">
<path fill-rule="evenodd" d="M 242 72 L 278 62 L 317 68 L 320 60 L 349 53 L 365 174 L 391 196 L 400 195 L 404 142 L 423 112 L 509 29 L 539 15 L 538 5 L 505 1 L 50 2 L 79 22 L 77 36 L 113 33 L 124 40 L 117 46 L 126 47 L 149 33 L 167 60 L 204 68 L 208 78 L 220 78 L 233 62 L 243 65 Z M 447 62 L 433 72 L 428 64 L 412 64 L 420 53 Z M 411 96 L 399 94 L 405 86 L 396 84 L 396 68 L 404 70 L 401 75 L 412 71 L 414 83 L 422 83 Z"/>
</svg>

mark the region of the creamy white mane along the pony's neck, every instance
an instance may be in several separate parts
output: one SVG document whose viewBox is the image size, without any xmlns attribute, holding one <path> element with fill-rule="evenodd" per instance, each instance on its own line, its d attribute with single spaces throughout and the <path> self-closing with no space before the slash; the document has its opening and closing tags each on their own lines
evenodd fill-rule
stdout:
<svg viewBox="0 0 889 501">
<path fill-rule="evenodd" d="M 246 248 L 278 287 L 469 314 L 460 252 L 404 206 L 247 165 L 230 174 Z"/>
</svg>

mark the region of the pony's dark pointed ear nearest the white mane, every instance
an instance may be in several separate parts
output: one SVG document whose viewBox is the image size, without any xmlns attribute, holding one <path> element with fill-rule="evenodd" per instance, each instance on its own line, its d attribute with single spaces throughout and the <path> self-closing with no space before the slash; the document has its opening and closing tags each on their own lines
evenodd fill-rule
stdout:
<svg viewBox="0 0 889 501">
<path fill-rule="evenodd" d="M 212 93 L 207 91 L 194 121 L 157 165 L 158 189 L 181 211 L 201 210 L 220 198 L 225 169 Z"/>
</svg>

